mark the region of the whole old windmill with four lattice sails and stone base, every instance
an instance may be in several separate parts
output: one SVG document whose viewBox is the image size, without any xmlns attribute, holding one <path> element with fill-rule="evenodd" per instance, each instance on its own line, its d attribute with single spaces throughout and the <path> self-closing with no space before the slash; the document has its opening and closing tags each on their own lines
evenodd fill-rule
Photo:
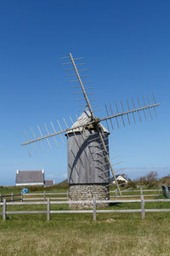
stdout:
<svg viewBox="0 0 170 256">
<path fill-rule="evenodd" d="M 123 103 L 121 102 L 122 111 L 119 111 L 117 103 L 115 104 L 116 112 L 113 110 L 112 105 L 109 107 L 105 105 L 105 110 L 107 115 L 104 118 L 98 118 L 94 115 L 94 106 L 92 101 L 89 100 L 88 90 L 90 87 L 87 87 L 89 81 L 85 80 L 88 78 L 88 75 L 82 73 L 86 72 L 86 69 L 82 69 L 84 63 L 79 62 L 82 58 L 73 58 L 70 55 L 68 57 L 61 58 L 62 60 L 69 59 L 69 62 L 62 63 L 62 65 L 68 66 L 65 71 L 69 72 L 67 77 L 75 77 L 76 79 L 69 82 L 76 83 L 74 88 L 76 94 L 82 94 L 83 101 L 85 102 L 85 108 L 80 117 L 77 118 L 76 123 L 71 119 L 71 127 L 67 125 L 65 119 L 65 129 L 63 129 L 57 120 L 59 125 L 59 131 L 56 130 L 54 124 L 51 122 L 51 128 L 53 132 L 49 132 L 48 127 L 44 124 L 46 135 L 42 135 L 40 126 L 37 125 L 37 130 L 40 133 L 40 137 L 36 137 L 35 132 L 31 128 L 31 134 L 33 139 L 30 139 L 26 133 L 27 142 L 22 143 L 22 146 L 26 146 L 28 153 L 30 150 L 28 148 L 29 144 L 33 143 L 33 146 L 36 149 L 35 143 L 39 142 L 42 149 L 42 140 L 47 140 L 49 148 L 51 144 L 49 139 L 54 138 L 56 143 L 56 136 L 65 134 L 67 137 L 67 154 L 68 154 L 68 182 L 70 185 L 70 198 L 71 200 L 77 199 L 87 199 L 86 195 L 97 195 L 99 199 L 108 198 L 108 188 L 111 180 L 114 180 L 116 183 L 116 188 L 121 194 L 121 189 L 119 183 L 116 180 L 116 174 L 114 171 L 114 166 L 111 163 L 109 155 L 109 125 L 111 123 L 112 130 L 115 130 L 115 125 L 119 128 L 120 119 L 122 124 L 125 126 L 125 117 L 127 118 L 128 124 L 131 124 L 130 116 L 133 117 L 133 122 L 136 123 L 135 113 L 139 115 L 139 121 L 141 122 L 141 113 L 144 113 L 144 118 L 147 119 L 146 111 L 149 111 L 150 117 L 152 119 L 153 113 L 151 110 L 154 109 L 156 114 L 156 107 L 160 105 L 156 103 L 155 96 L 153 96 L 153 103 L 150 102 L 150 97 L 148 96 L 148 102 L 145 102 L 144 96 L 142 96 L 143 105 L 137 97 L 138 107 L 135 107 L 135 102 L 132 100 L 130 103 L 127 101 L 127 110 L 125 110 Z M 108 127 L 108 130 L 105 129 L 102 122 L 105 121 Z M 63 137 L 61 137 L 63 140 Z M 110 176 L 111 172 L 111 176 Z M 90 193 L 89 193 L 90 191 Z M 99 196 L 101 195 L 101 196 Z"/>
</svg>

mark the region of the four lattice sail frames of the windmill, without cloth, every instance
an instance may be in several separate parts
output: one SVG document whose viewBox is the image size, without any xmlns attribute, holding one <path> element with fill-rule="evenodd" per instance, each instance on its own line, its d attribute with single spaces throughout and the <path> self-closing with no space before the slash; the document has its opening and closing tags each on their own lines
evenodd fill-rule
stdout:
<svg viewBox="0 0 170 256">
<path fill-rule="evenodd" d="M 150 102 L 150 97 L 148 96 L 149 105 L 146 105 L 146 102 L 145 102 L 145 100 L 144 100 L 144 96 L 142 96 L 143 102 L 144 102 L 144 106 L 141 107 L 141 104 L 140 104 L 140 102 L 139 102 L 139 97 L 137 97 L 139 108 L 136 108 L 136 107 L 135 107 L 134 101 L 133 101 L 133 99 L 132 99 L 133 109 L 130 109 L 129 102 L 127 101 L 127 111 L 125 111 L 125 110 L 124 110 L 123 103 L 121 102 L 122 112 L 120 112 L 120 111 L 118 110 L 117 103 L 116 103 L 116 104 L 115 104 L 115 105 L 116 105 L 116 106 L 115 106 L 115 107 L 116 107 L 116 113 L 114 113 L 114 112 L 113 112 L 113 108 L 112 108 L 111 103 L 110 103 L 109 108 L 107 107 L 107 105 L 105 105 L 105 110 L 106 110 L 107 116 L 104 117 L 104 118 L 101 118 L 101 119 L 96 118 L 95 115 L 94 115 L 94 108 L 93 108 L 93 106 L 91 105 L 91 101 L 89 100 L 88 93 L 87 93 L 87 90 L 88 90 L 88 89 L 91 89 L 91 87 L 85 87 L 85 86 L 84 86 L 84 84 L 88 84 L 90 81 L 82 81 L 82 79 L 87 78 L 88 75 L 80 75 L 80 73 L 86 71 L 86 69 L 78 70 L 78 67 L 79 67 L 79 66 L 82 67 L 82 65 L 84 65 L 84 63 L 76 63 L 76 61 L 82 60 L 82 58 L 73 58 L 73 56 L 72 56 L 71 53 L 70 53 L 70 55 L 69 55 L 68 57 L 63 57 L 63 58 L 61 58 L 61 59 L 70 59 L 70 60 L 71 60 L 71 62 L 62 63 L 62 65 L 71 65 L 71 67 L 69 67 L 69 68 L 67 68 L 67 69 L 65 69 L 65 70 L 66 70 L 66 71 L 69 71 L 69 72 L 70 72 L 70 71 L 74 71 L 74 72 L 75 72 L 75 73 L 69 73 L 69 74 L 67 75 L 67 77 L 72 77 L 72 76 L 76 76 L 76 77 L 77 77 L 76 80 L 71 80 L 71 81 L 69 81 L 69 82 L 71 82 L 71 83 L 72 83 L 72 82 L 76 82 L 76 83 L 78 82 L 78 84 L 79 84 L 79 85 L 75 86 L 74 88 L 79 88 L 79 89 L 81 89 L 80 91 L 77 91 L 76 93 L 77 93 L 77 94 L 81 94 L 81 93 L 82 93 L 83 99 L 85 100 L 86 109 L 88 109 L 88 111 L 89 111 L 89 113 L 90 113 L 90 117 L 89 117 L 89 119 L 88 119 L 88 123 L 86 123 L 86 124 L 81 124 L 81 125 L 74 125 L 74 129 L 73 129 L 72 127 L 69 128 L 69 125 L 67 125 L 67 123 L 66 123 L 66 121 L 65 121 L 65 119 L 64 119 L 66 129 L 62 129 L 61 125 L 59 124 L 59 121 L 57 120 L 57 123 L 58 123 L 58 125 L 59 125 L 59 130 L 60 130 L 60 131 L 56 131 L 55 128 L 54 128 L 54 124 L 53 124 L 52 122 L 50 122 L 50 124 L 51 124 L 51 126 L 52 126 L 54 132 L 53 132 L 53 133 L 50 133 L 50 132 L 48 131 L 47 125 L 44 124 L 45 131 L 47 132 L 47 135 L 45 135 L 45 136 L 42 136 L 42 131 L 41 131 L 39 125 L 37 125 L 37 130 L 39 131 L 41 137 L 36 137 L 36 136 L 35 136 L 35 133 L 34 133 L 34 131 L 33 131 L 33 129 L 31 128 L 31 134 L 32 134 L 32 136 L 33 136 L 33 139 L 32 139 L 32 140 L 29 140 L 29 138 L 28 138 L 28 136 L 27 136 L 27 133 L 26 133 L 26 131 L 25 131 L 26 138 L 27 138 L 27 142 L 26 142 L 26 143 L 22 143 L 21 145 L 22 145 L 22 146 L 26 146 L 26 148 L 27 148 L 27 145 L 28 145 L 28 144 L 33 143 L 34 148 L 35 148 L 35 150 L 37 151 L 36 146 L 35 146 L 34 143 L 40 142 L 41 147 L 42 147 L 42 149 L 44 150 L 44 148 L 43 148 L 43 146 L 42 146 L 42 140 L 46 139 L 47 142 L 48 142 L 48 147 L 51 149 L 51 145 L 50 145 L 50 143 L 49 143 L 49 141 L 48 141 L 48 138 L 49 138 L 49 137 L 54 137 L 54 142 L 57 144 L 56 139 L 55 139 L 55 136 L 56 136 L 56 135 L 59 135 L 59 136 L 61 137 L 61 134 L 64 134 L 64 133 L 68 133 L 68 132 L 73 132 L 73 133 L 75 133 L 75 131 L 77 131 L 77 129 L 82 129 L 82 131 L 85 131 L 86 128 L 89 129 L 89 128 L 93 127 L 94 130 L 96 131 L 98 137 L 99 137 L 99 140 L 100 140 L 101 150 L 102 150 L 102 152 L 103 152 L 103 154 L 104 154 L 104 158 L 105 158 L 105 165 L 109 165 L 109 166 L 110 166 L 110 170 L 111 170 L 111 173 L 112 173 L 112 177 L 114 178 L 115 183 L 116 183 L 116 188 L 118 189 L 119 194 L 122 195 L 122 194 L 121 194 L 121 189 L 120 189 L 119 184 L 118 184 L 118 182 L 117 182 L 117 180 L 116 180 L 116 175 L 115 175 L 113 166 L 111 165 L 111 160 L 110 160 L 110 156 L 109 156 L 108 147 L 107 147 L 107 145 L 105 145 L 105 139 L 104 139 L 104 137 L 103 137 L 103 135 L 104 135 L 104 133 L 105 133 L 104 127 L 103 127 L 103 125 L 100 125 L 100 122 L 105 121 L 105 122 L 106 122 L 106 125 L 107 125 L 107 127 L 108 127 L 108 130 L 109 130 L 108 120 L 110 120 L 110 122 L 111 122 L 111 128 L 114 130 L 114 125 L 113 125 L 112 120 L 116 119 L 116 125 L 117 125 L 117 128 L 119 128 L 118 118 L 120 117 L 120 118 L 122 119 L 122 124 L 125 126 L 125 121 L 124 121 L 123 117 L 124 117 L 124 116 L 127 116 L 128 124 L 131 125 L 131 122 L 130 122 L 130 119 L 129 119 L 130 114 L 133 114 L 133 122 L 136 123 L 136 119 L 135 119 L 134 113 L 138 113 L 138 114 L 139 114 L 139 121 L 141 122 L 140 112 L 143 112 L 143 113 L 144 113 L 144 118 L 147 119 L 147 118 L 146 118 L 145 110 L 148 109 L 149 112 L 150 112 L 150 109 L 151 109 L 151 108 L 154 108 L 154 111 L 155 111 L 155 114 L 156 114 L 156 107 L 159 106 L 160 104 L 159 104 L 159 103 L 156 103 L 155 96 L 153 96 L 154 103 L 151 104 L 151 102 Z M 110 112 L 110 113 L 109 113 L 109 112 Z M 152 114 L 151 114 L 151 112 L 150 112 L 150 117 L 151 117 L 151 119 L 152 119 Z M 156 117 L 157 117 L 157 115 L 156 115 Z M 72 119 L 71 119 L 71 122 L 72 122 L 72 124 L 73 124 Z M 81 132 L 81 135 L 82 135 L 82 137 L 84 137 L 83 132 Z M 63 140 L 63 137 L 61 137 L 61 139 Z M 83 138 L 83 139 L 84 139 L 84 138 Z M 63 141 L 63 143 L 64 143 L 64 141 Z M 31 155 L 31 154 L 30 154 L 30 151 L 29 151 L 29 148 L 27 148 L 27 150 L 28 150 L 29 155 Z M 90 148 L 89 148 L 89 150 L 90 150 Z M 108 180 L 107 180 L 107 181 L 108 181 Z"/>
</svg>

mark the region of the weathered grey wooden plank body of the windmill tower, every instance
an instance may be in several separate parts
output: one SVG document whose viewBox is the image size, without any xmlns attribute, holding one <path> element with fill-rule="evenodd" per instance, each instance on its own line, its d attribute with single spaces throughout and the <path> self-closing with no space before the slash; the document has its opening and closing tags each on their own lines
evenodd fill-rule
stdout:
<svg viewBox="0 0 170 256">
<path fill-rule="evenodd" d="M 109 150 L 108 133 L 103 137 Z M 94 130 L 86 130 L 85 139 L 79 131 L 68 134 L 67 155 L 69 184 L 108 183 L 110 166 L 106 163 L 99 136 Z"/>
</svg>

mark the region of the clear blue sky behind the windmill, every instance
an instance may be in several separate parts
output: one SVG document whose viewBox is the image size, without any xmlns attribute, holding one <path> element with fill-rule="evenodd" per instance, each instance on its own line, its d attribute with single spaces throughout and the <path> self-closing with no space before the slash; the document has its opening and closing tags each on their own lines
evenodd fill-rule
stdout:
<svg viewBox="0 0 170 256">
<path fill-rule="evenodd" d="M 69 52 L 85 57 L 99 108 L 155 93 L 158 119 L 116 129 L 114 147 L 129 177 L 170 174 L 169 12 L 168 0 L 0 1 L 0 185 L 14 184 L 16 169 L 65 178 L 59 139 L 31 158 L 20 143 L 30 126 L 80 114 L 59 60 Z"/>
</svg>

